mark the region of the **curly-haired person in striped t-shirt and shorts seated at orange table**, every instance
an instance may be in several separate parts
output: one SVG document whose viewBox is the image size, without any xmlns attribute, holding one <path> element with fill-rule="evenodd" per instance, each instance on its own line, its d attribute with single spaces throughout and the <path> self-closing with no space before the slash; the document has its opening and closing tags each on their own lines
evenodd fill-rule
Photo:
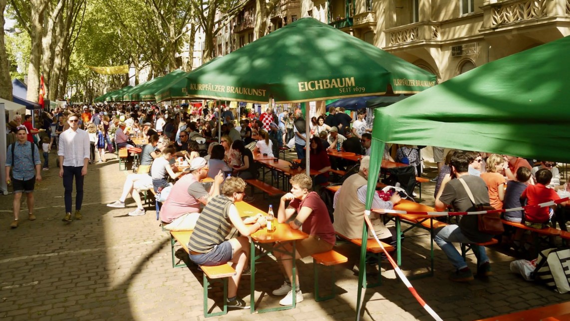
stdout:
<svg viewBox="0 0 570 321">
<path fill-rule="evenodd" d="M 261 214 L 243 220 L 240 217 L 234 204 L 243 199 L 245 188 L 246 183 L 241 178 L 228 178 L 222 186 L 222 195 L 211 197 L 202 210 L 188 242 L 190 261 L 197 265 L 229 263 L 234 268 L 235 275 L 230 277 L 227 287 L 228 308 L 249 308 L 242 299 L 237 298 L 239 279 L 247 267 L 250 255 L 247 237 L 266 224 L 265 217 Z M 241 236 L 226 239 L 232 227 Z"/>
</svg>

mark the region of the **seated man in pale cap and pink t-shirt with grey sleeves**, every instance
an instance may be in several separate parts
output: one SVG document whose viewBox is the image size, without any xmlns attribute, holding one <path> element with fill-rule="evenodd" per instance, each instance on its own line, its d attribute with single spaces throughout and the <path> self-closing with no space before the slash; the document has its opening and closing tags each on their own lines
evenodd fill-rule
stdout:
<svg viewBox="0 0 570 321">
<path fill-rule="evenodd" d="M 214 178 L 214 184 L 207 192 L 200 182 L 208 176 L 207 161 L 196 157 L 190 162 L 190 173 L 186 174 L 172 186 L 170 194 L 160 210 L 162 227 L 170 231 L 194 230 L 201 205 L 208 204 L 210 197 L 219 195 L 219 186 L 223 182 L 223 173 Z"/>
</svg>

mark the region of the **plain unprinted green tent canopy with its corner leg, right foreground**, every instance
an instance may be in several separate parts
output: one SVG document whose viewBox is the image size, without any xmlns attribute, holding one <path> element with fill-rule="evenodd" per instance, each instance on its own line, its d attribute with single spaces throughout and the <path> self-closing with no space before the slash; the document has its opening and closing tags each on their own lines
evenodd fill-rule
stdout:
<svg viewBox="0 0 570 321">
<path fill-rule="evenodd" d="M 570 36 L 374 111 L 367 209 L 384 143 L 570 162 Z"/>
</svg>

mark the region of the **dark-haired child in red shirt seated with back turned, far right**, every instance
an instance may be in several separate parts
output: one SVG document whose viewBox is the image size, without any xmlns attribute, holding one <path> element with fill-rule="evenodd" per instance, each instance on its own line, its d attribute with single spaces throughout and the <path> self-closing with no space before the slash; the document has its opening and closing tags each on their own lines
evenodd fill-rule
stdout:
<svg viewBox="0 0 570 321">
<path fill-rule="evenodd" d="M 560 199 L 554 189 L 546 187 L 552 180 L 552 172 L 550 170 L 540 169 L 536 172 L 535 177 L 537 184 L 528 185 L 520 196 L 520 204 L 524 204 L 524 200 L 527 200 L 527 205 L 538 205 Z M 553 214 L 553 209 L 548 207 L 525 209 L 524 224 L 539 229 L 544 228 L 545 225 L 549 224 Z"/>
</svg>

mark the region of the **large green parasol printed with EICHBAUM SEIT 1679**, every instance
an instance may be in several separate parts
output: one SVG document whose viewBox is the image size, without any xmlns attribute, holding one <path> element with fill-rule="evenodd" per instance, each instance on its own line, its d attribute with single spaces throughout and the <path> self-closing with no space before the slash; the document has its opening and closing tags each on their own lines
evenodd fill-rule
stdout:
<svg viewBox="0 0 570 321">
<path fill-rule="evenodd" d="M 412 94 L 435 76 L 314 18 L 302 18 L 189 73 L 188 96 L 296 103 Z"/>
</svg>

